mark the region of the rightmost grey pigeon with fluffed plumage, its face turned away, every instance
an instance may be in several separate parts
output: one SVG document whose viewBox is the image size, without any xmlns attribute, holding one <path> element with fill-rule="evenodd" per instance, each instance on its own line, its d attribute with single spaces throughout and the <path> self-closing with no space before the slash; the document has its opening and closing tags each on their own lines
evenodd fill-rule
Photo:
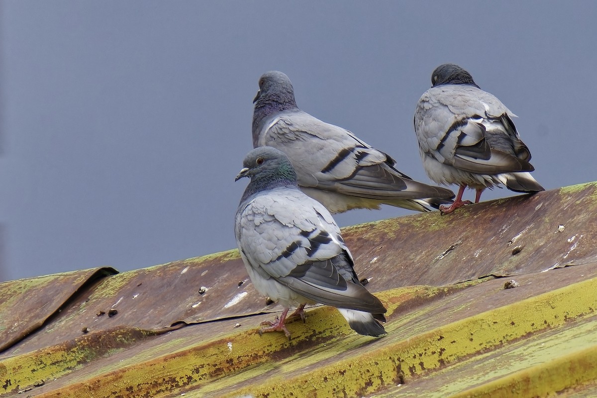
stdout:
<svg viewBox="0 0 597 398">
<path fill-rule="evenodd" d="M 418 101 L 414 129 L 429 178 L 460 186 L 442 213 L 471 203 L 462 200 L 467 186 L 476 190 L 475 203 L 485 188 L 498 184 L 515 192 L 544 190 L 531 177 L 531 152 L 512 122 L 516 115 L 458 65 L 438 66 L 431 83 Z"/>
</svg>

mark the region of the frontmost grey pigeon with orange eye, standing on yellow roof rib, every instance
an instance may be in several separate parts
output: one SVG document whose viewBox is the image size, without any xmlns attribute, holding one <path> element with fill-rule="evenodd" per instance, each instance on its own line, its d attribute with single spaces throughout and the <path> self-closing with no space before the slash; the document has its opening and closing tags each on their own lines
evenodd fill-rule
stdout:
<svg viewBox="0 0 597 398">
<path fill-rule="evenodd" d="M 251 178 L 235 218 L 236 244 L 253 285 L 284 306 L 262 332 L 282 331 L 290 307 L 304 320 L 305 304 L 338 307 L 350 327 L 386 334 L 381 301 L 359 282 L 352 255 L 330 212 L 298 189 L 287 156 L 272 147 L 251 150 L 236 176 Z"/>
</svg>

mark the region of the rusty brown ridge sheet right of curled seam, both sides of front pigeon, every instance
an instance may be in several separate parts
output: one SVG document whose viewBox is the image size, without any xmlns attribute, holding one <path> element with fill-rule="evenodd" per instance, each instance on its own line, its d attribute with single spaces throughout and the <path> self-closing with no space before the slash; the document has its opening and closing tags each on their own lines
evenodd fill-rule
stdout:
<svg viewBox="0 0 597 398">
<path fill-rule="evenodd" d="M 592 244 L 597 220 L 587 217 L 597 213 L 595 190 L 595 183 L 581 184 L 479 203 L 444 216 L 434 212 L 378 221 L 344 229 L 344 237 L 359 276 L 371 278 L 367 288 L 372 292 L 583 264 L 597 260 Z M 200 294 L 202 287 L 207 291 Z M 107 316 L 110 310 L 118 313 Z M 276 310 L 254 291 L 233 250 L 107 277 L 79 292 L 60 317 L 3 355 L 71 340 L 83 330 L 118 325 L 159 330 Z"/>
</svg>

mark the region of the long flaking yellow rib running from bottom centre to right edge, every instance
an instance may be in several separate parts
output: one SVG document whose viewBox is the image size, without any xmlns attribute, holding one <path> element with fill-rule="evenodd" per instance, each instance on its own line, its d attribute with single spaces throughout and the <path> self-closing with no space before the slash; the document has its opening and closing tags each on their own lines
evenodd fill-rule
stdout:
<svg viewBox="0 0 597 398">
<path fill-rule="evenodd" d="M 408 377 L 484 353 L 533 333 L 561 327 L 570 319 L 595 316 L 595 292 L 597 279 L 586 280 L 477 314 L 408 340 L 386 344 L 361 356 L 347 353 L 343 360 L 298 377 L 280 375 L 267 384 L 247 387 L 226 396 L 250 394 L 264 398 L 298 398 L 371 395 L 384 387 L 400 384 Z M 392 330 L 390 333 L 397 334 L 399 331 Z M 556 387 L 552 385 L 551 388 Z"/>
</svg>

